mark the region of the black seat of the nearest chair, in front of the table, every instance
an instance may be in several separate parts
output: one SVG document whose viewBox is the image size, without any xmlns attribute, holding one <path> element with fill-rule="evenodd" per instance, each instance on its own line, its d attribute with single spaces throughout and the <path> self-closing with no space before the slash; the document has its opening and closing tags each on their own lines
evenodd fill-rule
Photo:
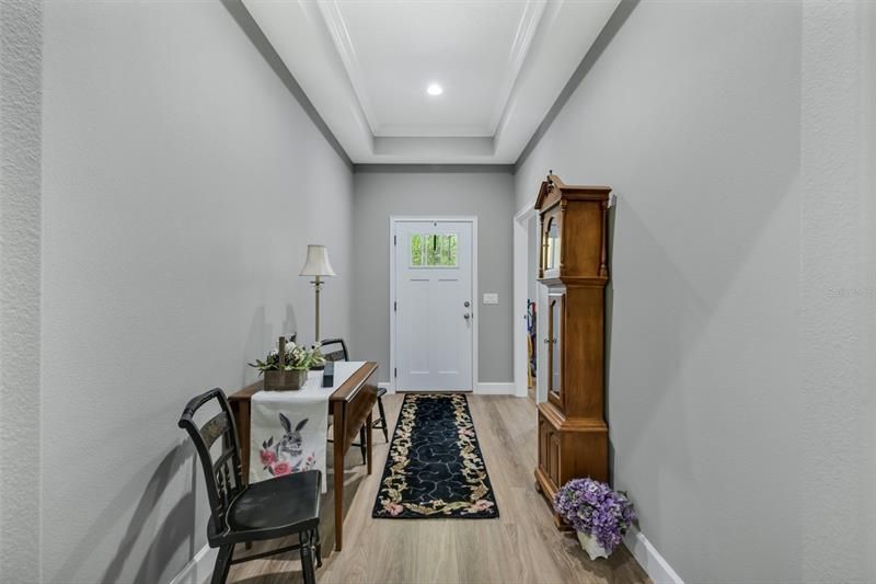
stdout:
<svg viewBox="0 0 876 584">
<path fill-rule="evenodd" d="M 295 472 L 246 486 L 228 512 L 232 537 L 270 539 L 320 524 L 321 473 Z M 237 537 L 234 537 L 237 539 Z"/>
</svg>

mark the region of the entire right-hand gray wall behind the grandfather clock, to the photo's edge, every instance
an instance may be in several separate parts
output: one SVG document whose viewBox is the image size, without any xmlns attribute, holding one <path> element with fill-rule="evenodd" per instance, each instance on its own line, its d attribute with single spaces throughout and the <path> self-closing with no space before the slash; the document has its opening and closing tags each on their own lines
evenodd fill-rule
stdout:
<svg viewBox="0 0 876 584">
<path fill-rule="evenodd" d="M 687 582 L 875 580 L 865 8 L 805 7 L 639 3 L 516 174 L 618 195 L 613 480 Z"/>
</svg>

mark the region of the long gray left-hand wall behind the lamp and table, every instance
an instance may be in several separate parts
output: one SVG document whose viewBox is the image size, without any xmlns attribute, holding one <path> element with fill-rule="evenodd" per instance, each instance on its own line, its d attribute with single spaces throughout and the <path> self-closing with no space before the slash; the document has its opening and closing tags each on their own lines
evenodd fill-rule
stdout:
<svg viewBox="0 0 876 584">
<path fill-rule="evenodd" d="M 338 273 L 323 330 L 350 333 L 351 169 L 222 3 L 44 10 L 42 489 L 25 500 L 42 497 L 45 582 L 166 582 L 206 543 L 176 420 L 255 379 L 246 362 L 281 332 L 311 340 L 307 243 Z"/>
</svg>

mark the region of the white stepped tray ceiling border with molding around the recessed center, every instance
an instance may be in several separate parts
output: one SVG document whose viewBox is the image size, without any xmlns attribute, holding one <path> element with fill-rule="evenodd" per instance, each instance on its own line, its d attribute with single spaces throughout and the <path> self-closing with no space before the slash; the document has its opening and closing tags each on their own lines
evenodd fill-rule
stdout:
<svg viewBox="0 0 876 584">
<path fill-rule="evenodd" d="M 533 134 L 553 119 L 569 76 L 621 0 L 527 0 L 494 119 L 484 122 L 497 118 L 497 126 L 440 129 L 381 126 L 339 0 L 239 1 L 354 163 L 508 164 L 525 160 Z M 280 68 L 276 57 L 272 66 Z"/>
</svg>

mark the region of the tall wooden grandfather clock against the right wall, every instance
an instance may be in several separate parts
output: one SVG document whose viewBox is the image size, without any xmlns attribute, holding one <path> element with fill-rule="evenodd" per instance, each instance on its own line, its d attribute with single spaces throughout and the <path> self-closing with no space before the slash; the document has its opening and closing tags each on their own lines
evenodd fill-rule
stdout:
<svg viewBox="0 0 876 584">
<path fill-rule="evenodd" d="M 603 357 L 610 192 L 549 174 L 535 201 L 539 282 L 548 287 L 548 401 L 539 404 L 535 486 L 549 501 L 570 479 L 609 478 Z M 562 525 L 558 516 L 554 520 Z"/>
</svg>

